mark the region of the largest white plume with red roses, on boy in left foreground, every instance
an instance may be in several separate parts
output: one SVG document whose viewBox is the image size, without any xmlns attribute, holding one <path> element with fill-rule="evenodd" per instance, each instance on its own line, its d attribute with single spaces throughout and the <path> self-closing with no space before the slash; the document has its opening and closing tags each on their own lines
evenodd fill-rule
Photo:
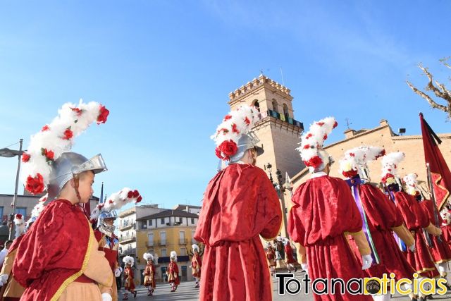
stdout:
<svg viewBox="0 0 451 301">
<path fill-rule="evenodd" d="M 22 180 L 25 188 L 37 195 L 49 185 L 51 163 L 73 146 L 75 137 L 83 133 L 91 123 L 105 123 L 109 111 L 97 102 L 78 105 L 66 103 L 58 110 L 58 116 L 42 130 L 32 135 L 27 152 L 22 155 Z"/>
</svg>

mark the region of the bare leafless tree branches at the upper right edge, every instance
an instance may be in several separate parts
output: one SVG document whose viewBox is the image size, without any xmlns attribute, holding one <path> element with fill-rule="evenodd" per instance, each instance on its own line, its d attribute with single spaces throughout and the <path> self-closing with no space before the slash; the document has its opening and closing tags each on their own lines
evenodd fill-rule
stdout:
<svg viewBox="0 0 451 301">
<path fill-rule="evenodd" d="M 445 59 L 440 59 L 439 61 L 445 67 L 451 69 L 451 65 L 447 63 L 447 61 L 449 61 L 450 59 L 451 59 L 451 56 L 447 57 Z M 429 96 L 425 92 L 416 88 L 414 85 L 412 85 L 412 82 L 409 82 L 409 80 L 406 80 L 407 85 L 409 85 L 409 87 L 412 89 L 412 91 L 414 91 L 416 94 L 419 94 L 419 96 L 426 99 L 426 101 L 429 104 L 431 104 L 431 106 L 434 109 L 439 109 L 439 110 L 447 113 L 447 118 L 449 120 L 451 120 L 451 92 L 450 92 L 450 90 L 447 90 L 447 88 L 445 87 L 445 84 L 440 83 L 437 80 L 433 80 L 433 76 L 428 71 L 428 68 L 424 68 L 423 66 L 421 66 L 421 64 L 419 64 L 419 68 L 421 70 L 423 70 L 424 74 L 426 74 L 426 76 L 429 79 L 428 85 L 426 85 L 425 90 L 433 92 L 433 94 L 435 94 L 435 97 L 438 97 L 439 99 L 443 99 L 445 101 L 445 104 L 439 104 L 438 102 L 435 102 L 435 100 L 431 96 Z"/>
</svg>

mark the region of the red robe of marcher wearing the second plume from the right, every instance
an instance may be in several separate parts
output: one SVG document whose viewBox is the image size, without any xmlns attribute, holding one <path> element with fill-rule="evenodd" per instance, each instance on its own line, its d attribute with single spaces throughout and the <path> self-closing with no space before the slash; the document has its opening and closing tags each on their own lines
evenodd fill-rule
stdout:
<svg viewBox="0 0 451 301">
<path fill-rule="evenodd" d="M 430 223 L 428 215 L 415 197 L 404 191 L 395 192 L 395 200 L 407 229 L 412 232 L 415 238 L 416 251 L 407 250 L 407 261 L 416 273 L 427 277 L 431 271 L 437 272 L 428 245 L 424 240 L 424 235 L 421 234 L 423 228 L 426 228 Z"/>
</svg>

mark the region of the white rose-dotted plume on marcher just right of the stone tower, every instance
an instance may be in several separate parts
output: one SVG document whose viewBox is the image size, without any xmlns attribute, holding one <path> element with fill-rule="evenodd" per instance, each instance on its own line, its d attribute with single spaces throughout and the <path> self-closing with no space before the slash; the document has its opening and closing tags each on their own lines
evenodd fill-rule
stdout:
<svg viewBox="0 0 451 301">
<path fill-rule="evenodd" d="M 324 160 L 327 160 L 322 158 L 320 151 L 323 149 L 324 141 L 337 125 L 335 118 L 326 117 L 312 123 L 309 131 L 302 135 L 301 146 L 297 150 L 301 153 L 305 166 L 309 166 L 311 171 L 321 169 Z"/>
</svg>

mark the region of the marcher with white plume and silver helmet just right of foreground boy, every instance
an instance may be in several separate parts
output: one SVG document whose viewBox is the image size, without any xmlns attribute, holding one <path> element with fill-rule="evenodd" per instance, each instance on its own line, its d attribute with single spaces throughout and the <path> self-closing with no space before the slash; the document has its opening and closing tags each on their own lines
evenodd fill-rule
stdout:
<svg viewBox="0 0 451 301">
<path fill-rule="evenodd" d="M 116 210 L 121 209 L 125 204 L 141 202 L 142 196 L 137 190 L 123 188 L 113 193 L 107 198 L 106 202 L 97 204 L 91 213 L 91 222 L 96 225 L 94 236 L 99 245 L 99 251 L 105 252 L 105 258 L 108 260 L 114 277 L 121 276 L 122 268 L 118 264 L 118 246 L 119 240 L 114 235 L 116 227 L 113 225 L 116 220 Z M 113 301 L 118 300 L 118 288 L 116 281 L 111 285 L 111 297 Z"/>
</svg>

